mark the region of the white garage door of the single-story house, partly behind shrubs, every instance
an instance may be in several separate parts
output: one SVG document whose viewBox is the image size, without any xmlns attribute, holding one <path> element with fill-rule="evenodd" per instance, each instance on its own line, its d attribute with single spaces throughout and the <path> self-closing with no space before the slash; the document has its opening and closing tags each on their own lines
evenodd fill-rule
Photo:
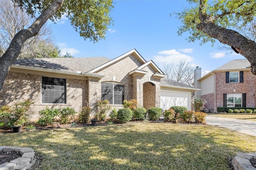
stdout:
<svg viewBox="0 0 256 170">
<path fill-rule="evenodd" d="M 160 106 L 166 110 L 172 106 L 184 106 L 190 110 L 190 93 L 161 90 Z"/>
</svg>

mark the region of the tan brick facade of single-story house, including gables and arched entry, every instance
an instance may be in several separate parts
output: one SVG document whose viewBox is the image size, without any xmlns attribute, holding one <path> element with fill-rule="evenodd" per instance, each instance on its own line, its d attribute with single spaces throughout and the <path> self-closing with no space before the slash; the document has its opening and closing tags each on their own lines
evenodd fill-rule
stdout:
<svg viewBox="0 0 256 170">
<path fill-rule="evenodd" d="M 154 78 L 156 71 L 149 64 L 143 68 L 147 74 L 137 75 L 129 72 L 144 63 L 133 55 L 128 55 L 122 60 L 111 64 L 96 73 L 104 76 L 101 79 L 93 77 L 70 78 L 66 74 L 52 74 L 46 72 L 21 73 L 10 71 L 0 91 L 0 105 L 11 105 L 22 99 L 31 99 L 34 102 L 30 115 L 31 120 L 39 118 L 38 111 L 50 108 L 74 107 L 78 112 L 88 101 L 90 107 L 94 107 L 101 100 L 101 83 L 116 82 L 124 84 L 125 100 L 136 99 L 138 107 L 160 107 L 160 78 Z M 26 71 L 28 72 L 28 71 Z M 66 104 L 42 104 L 42 76 L 66 78 Z M 68 77 L 68 78 L 67 78 Z M 150 83 L 148 83 L 150 82 Z M 112 108 L 120 109 L 122 105 L 111 105 Z"/>
</svg>

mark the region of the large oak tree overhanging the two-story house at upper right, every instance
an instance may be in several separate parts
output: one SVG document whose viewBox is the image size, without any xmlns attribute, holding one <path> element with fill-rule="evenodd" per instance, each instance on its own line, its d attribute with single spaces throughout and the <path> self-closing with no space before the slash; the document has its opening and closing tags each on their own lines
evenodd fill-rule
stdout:
<svg viewBox="0 0 256 170">
<path fill-rule="evenodd" d="M 251 63 L 256 75 L 256 43 L 243 32 L 238 32 L 256 16 L 255 0 L 188 0 L 192 7 L 176 13 L 183 25 L 178 34 L 188 31 L 188 41 L 200 40 L 201 44 L 220 43 L 230 46 Z"/>
</svg>

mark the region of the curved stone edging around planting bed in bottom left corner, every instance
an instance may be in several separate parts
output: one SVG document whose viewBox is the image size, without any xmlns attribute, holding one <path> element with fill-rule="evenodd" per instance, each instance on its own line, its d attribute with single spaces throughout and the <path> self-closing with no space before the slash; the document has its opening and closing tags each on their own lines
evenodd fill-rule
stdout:
<svg viewBox="0 0 256 170">
<path fill-rule="evenodd" d="M 11 152 L 16 151 L 22 154 L 21 157 L 11 160 L 10 162 L 5 162 L 0 165 L 0 170 L 29 170 L 32 165 L 36 162 L 35 152 L 32 148 L 24 147 L 13 147 L 13 146 L 2 146 L 0 147 L 0 152 Z"/>
</svg>

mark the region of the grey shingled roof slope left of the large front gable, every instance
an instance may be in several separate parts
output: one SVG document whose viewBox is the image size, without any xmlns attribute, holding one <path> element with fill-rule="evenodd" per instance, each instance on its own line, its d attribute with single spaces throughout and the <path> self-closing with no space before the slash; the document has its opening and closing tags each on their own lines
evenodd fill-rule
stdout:
<svg viewBox="0 0 256 170">
<path fill-rule="evenodd" d="M 104 63 L 107 63 L 110 60 L 111 59 L 106 57 L 18 59 L 14 62 L 14 65 L 63 70 L 69 72 L 88 72 Z"/>
</svg>

